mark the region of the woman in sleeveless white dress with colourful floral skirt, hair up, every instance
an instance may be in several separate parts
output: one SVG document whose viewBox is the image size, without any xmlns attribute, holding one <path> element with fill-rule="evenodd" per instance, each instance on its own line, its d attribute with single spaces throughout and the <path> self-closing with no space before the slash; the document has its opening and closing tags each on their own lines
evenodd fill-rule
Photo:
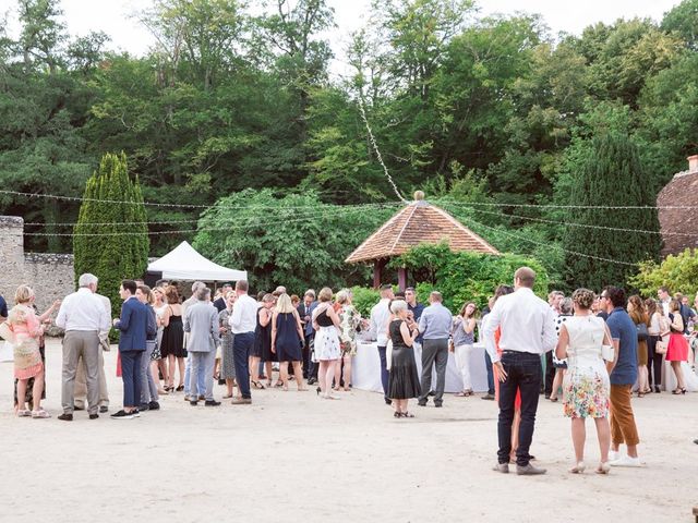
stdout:
<svg viewBox="0 0 698 523">
<path fill-rule="evenodd" d="M 576 464 L 570 472 L 585 471 L 583 453 L 587 417 L 597 425 L 601 462 L 598 474 L 609 473 L 609 396 L 611 384 L 602 356 L 602 346 L 612 345 L 611 333 L 602 318 L 593 315 L 594 294 L 588 289 L 577 289 L 573 295 L 575 315 L 567 318 L 559 329 L 555 353 L 558 360 L 567 358 L 567 372 L 563 379 L 563 405 L 565 415 L 571 417 L 571 439 Z"/>
</svg>

